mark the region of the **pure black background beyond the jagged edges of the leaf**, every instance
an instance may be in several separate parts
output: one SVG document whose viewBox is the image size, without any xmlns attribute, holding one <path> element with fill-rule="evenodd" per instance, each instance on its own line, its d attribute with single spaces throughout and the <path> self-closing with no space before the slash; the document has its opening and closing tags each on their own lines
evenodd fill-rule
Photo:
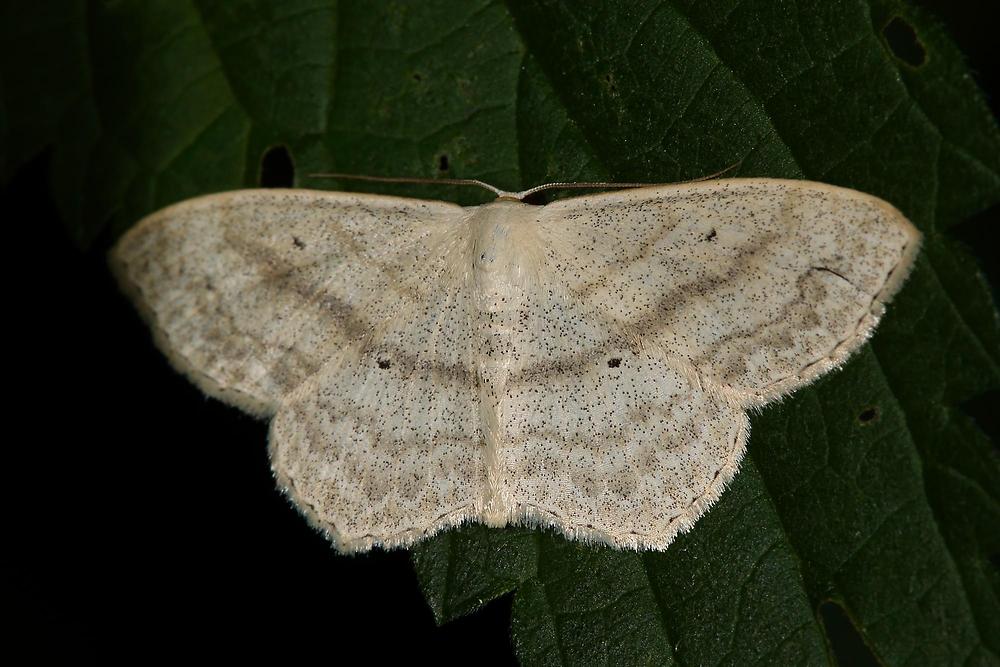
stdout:
<svg viewBox="0 0 1000 667">
<path fill-rule="evenodd" d="M 964 3 L 918 4 L 944 21 L 997 113 L 995 43 L 983 29 L 993 19 Z M 513 661 L 510 596 L 437 627 L 406 551 L 339 556 L 297 516 L 271 478 L 267 425 L 169 368 L 107 271 L 110 238 L 87 252 L 70 241 L 47 155 L 0 197 L 16 267 L 5 317 L 17 369 L 5 438 L 13 638 L 36 657 L 142 646 L 154 656 Z M 994 295 L 997 229 L 994 207 L 957 232 Z M 997 399 L 967 406 L 995 443 Z"/>
</svg>

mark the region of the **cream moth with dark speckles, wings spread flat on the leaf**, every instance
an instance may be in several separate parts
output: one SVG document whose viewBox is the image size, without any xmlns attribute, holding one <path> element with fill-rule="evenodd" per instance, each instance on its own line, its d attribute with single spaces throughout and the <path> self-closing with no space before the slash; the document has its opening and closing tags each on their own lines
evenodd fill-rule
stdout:
<svg viewBox="0 0 1000 667">
<path fill-rule="evenodd" d="M 661 550 L 737 473 L 747 411 L 857 350 L 920 242 L 807 181 L 536 190 L 210 195 L 112 266 L 178 370 L 271 420 L 279 486 L 337 549 L 478 521 Z"/>
</svg>

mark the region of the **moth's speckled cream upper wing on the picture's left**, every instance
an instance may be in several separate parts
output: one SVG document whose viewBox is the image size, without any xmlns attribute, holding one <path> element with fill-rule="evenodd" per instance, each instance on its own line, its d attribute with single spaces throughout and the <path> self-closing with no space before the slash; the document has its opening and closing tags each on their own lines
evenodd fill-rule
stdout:
<svg viewBox="0 0 1000 667">
<path fill-rule="evenodd" d="M 111 263 L 179 370 L 270 415 L 337 350 L 434 289 L 427 258 L 463 216 L 444 202 L 237 191 L 149 216 Z"/>
</svg>

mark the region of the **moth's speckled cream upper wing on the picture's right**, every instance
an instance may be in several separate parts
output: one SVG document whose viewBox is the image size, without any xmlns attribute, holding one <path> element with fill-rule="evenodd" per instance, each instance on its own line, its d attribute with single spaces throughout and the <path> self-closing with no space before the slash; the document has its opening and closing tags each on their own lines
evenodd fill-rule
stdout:
<svg viewBox="0 0 1000 667">
<path fill-rule="evenodd" d="M 569 199 L 539 224 L 553 273 L 595 317 L 746 406 L 857 349 L 920 238 L 880 199 L 776 179 Z"/>
</svg>

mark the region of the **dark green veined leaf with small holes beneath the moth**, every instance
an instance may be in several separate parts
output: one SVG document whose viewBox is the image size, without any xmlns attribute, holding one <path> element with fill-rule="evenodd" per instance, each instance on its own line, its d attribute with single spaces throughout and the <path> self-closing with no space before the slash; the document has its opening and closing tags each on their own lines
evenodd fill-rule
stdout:
<svg viewBox="0 0 1000 667">
<path fill-rule="evenodd" d="M 52 145 L 82 244 L 256 185 L 274 146 L 308 187 L 736 164 L 893 202 L 925 246 L 872 344 L 754 416 L 732 487 L 665 553 L 467 526 L 413 562 L 440 622 L 513 592 L 530 664 L 824 663 L 831 602 L 884 664 L 1000 662 L 1000 469 L 959 408 L 1000 386 L 1000 324 L 948 231 L 1000 201 L 1000 133 L 930 17 L 896 0 L 79 0 L 2 18 L 0 174 Z"/>
</svg>

